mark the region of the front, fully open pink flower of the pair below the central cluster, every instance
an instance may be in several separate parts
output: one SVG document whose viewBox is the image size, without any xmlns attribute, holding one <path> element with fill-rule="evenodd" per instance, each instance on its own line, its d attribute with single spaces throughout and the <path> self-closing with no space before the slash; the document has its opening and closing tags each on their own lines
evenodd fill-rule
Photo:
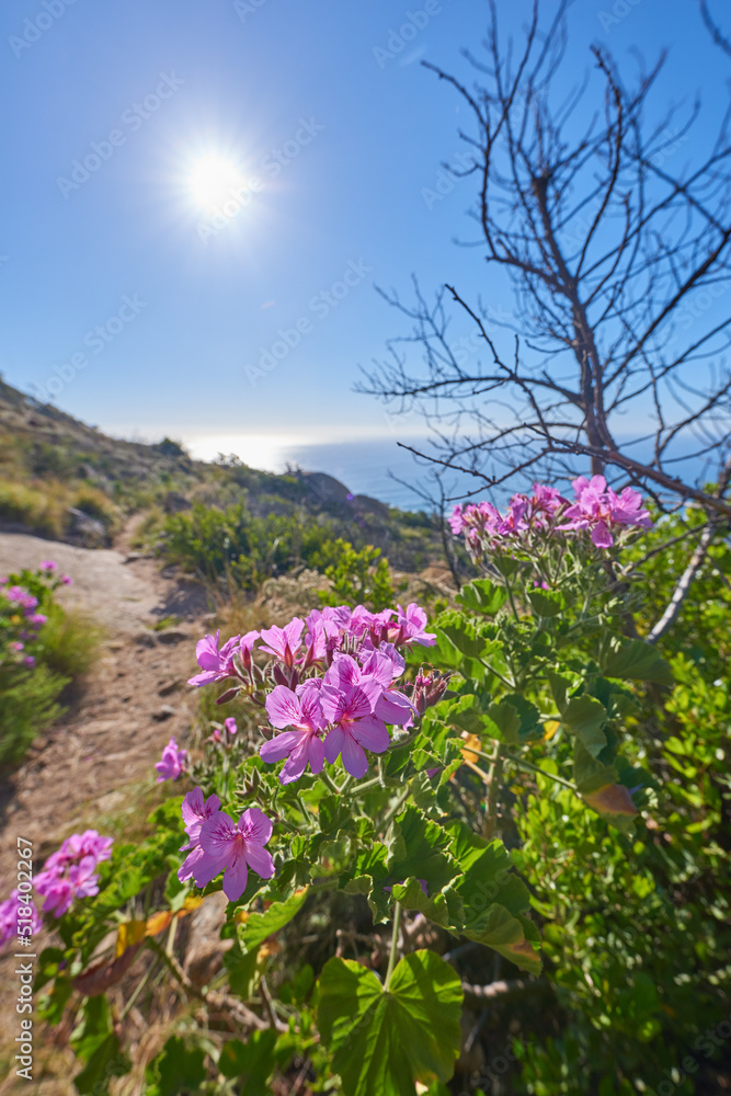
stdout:
<svg viewBox="0 0 731 1096">
<path fill-rule="evenodd" d="M 258 807 L 245 810 L 237 823 L 222 811 L 206 819 L 201 826 L 203 855 L 193 870 L 197 887 L 205 887 L 224 871 L 224 893 L 238 901 L 247 889 L 249 868 L 271 879 L 274 861 L 264 845 L 272 836 L 272 823 Z"/>
</svg>

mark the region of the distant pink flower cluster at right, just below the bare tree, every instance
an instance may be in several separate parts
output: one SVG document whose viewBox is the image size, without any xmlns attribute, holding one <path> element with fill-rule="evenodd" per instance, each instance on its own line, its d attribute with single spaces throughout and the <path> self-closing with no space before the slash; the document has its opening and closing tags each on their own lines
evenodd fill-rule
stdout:
<svg viewBox="0 0 731 1096">
<path fill-rule="evenodd" d="M 617 495 L 603 476 L 572 482 L 574 502 L 556 488 L 534 483 L 533 494 L 515 494 L 504 513 L 490 502 L 455 506 L 449 525 L 455 536 L 464 534 L 475 562 L 501 548 L 524 547 L 553 533 L 587 530 L 597 548 L 610 548 L 617 527 L 651 528 L 650 514 L 639 491 L 627 487 Z"/>
</svg>

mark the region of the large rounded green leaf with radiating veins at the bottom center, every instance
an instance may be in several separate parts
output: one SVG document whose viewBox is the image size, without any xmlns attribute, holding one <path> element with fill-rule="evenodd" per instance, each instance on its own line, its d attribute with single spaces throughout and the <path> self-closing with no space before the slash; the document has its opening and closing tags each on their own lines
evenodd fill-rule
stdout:
<svg viewBox="0 0 731 1096">
<path fill-rule="evenodd" d="M 415 1081 L 449 1081 L 461 1044 L 462 991 L 439 956 L 406 956 L 388 992 L 359 963 L 330 959 L 319 991 L 318 1027 L 345 1096 L 414 1096 Z"/>
</svg>

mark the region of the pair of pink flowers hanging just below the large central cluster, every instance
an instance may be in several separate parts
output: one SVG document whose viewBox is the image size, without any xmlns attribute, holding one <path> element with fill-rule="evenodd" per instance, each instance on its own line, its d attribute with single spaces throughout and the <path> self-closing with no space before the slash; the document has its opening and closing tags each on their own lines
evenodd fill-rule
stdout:
<svg viewBox="0 0 731 1096">
<path fill-rule="evenodd" d="M 224 893 L 236 902 L 247 889 L 249 868 L 262 879 L 274 875 L 274 861 L 264 845 L 272 836 L 272 822 L 258 807 L 245 810 L 238 822 L 220 810 L 218 796 L 204 799 L 199 788 L 189 791 L 183 800 L 183 821 L 187 844 L 181 847 L 187 856 L 178 878 L 193 879 L 205 887 L 224 872 Z"/>
</svg>

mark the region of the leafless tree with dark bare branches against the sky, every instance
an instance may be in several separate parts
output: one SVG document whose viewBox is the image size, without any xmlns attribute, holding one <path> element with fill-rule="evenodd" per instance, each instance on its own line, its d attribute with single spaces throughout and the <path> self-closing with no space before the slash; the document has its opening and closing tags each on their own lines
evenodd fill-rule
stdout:
<svg viewBox="0 0 731 1096">
<path fill-rule="evenodd" d="M 469 493 L 591 465 L 726 525 L 728 492 L 704 484 L 721 482 L 730 448 L 729 105 L 698 152 L 700 103 L 656 107 L 664 56 L 636 56 L 627 82 L 594 46 L 567 92 L 569 7 L 545 24 L 535 0 L 518 48 L 491 0 L 483 53 L 464 54 L 473 84 L 426 65 L 469 109 L 471 163 L 444 167 L 476 187 L 470 242 L 507 274 L 514 318 L 454 285 L 431 300 L 414 281 L 412 304 L 384 293 L 410 330 L 359 389 L 418 408 L 421 455 L 470 473 Z"/>
</svg>

